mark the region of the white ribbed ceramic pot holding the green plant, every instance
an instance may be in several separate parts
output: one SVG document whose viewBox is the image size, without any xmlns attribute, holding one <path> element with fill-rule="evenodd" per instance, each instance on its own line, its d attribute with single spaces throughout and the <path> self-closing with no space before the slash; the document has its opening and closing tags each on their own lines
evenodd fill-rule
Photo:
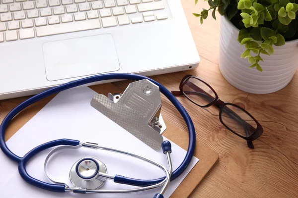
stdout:
<svg viewBox="0 0 298 198">
<path fill-rule="evenodd" d="M 253 94 L 269 94 L 286 87 L 298 68 L 298 40 L 286 42 L 281 47 L 274 46 L 274 54 L 261 54 L 263 72 L 251 65 L 247 59 L 240 58 L 245 50 L 237 41 L 239 30 L 221 17 L 219 68 L 224 78 L 234 87 Z"/>
</svg>

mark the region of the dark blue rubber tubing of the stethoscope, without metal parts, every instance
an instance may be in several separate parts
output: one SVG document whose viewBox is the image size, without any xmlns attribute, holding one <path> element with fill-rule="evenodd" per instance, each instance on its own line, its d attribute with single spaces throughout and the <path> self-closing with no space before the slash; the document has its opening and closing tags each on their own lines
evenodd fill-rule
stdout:
<svg viewBox="0 0 298 198">
<path fill-rule="evenodd" d="M 171 180 L 176 179 L 177 177 L 179 177 L 185 171 L 185 169 L 187 168 L 187 166 L 189 165 L 189 163 L 190 163 L 190 161 L 193 157 L 194 149 L 195 149 L 195 145 L 196 145 L 195 127 L 194 127 L 194 124 L 193 124 L 189 114 L 185 110 L 185 108 L 164 86 L 162 86 L 158 82 L 156 82 L 156 81 L 154 81 L 154 80 L 152 80 L 148 77 L 137 75 L 137 74 L 115 73 L 115 74 L 101 74 L 101 75 L 91 76 L 91 77 L 75 80 L 75 81 L 72 81 L 72 82 L 69 82 L 69 83 L 66 83 L 66 84 L 51 88 L 47 91 L 44 91 L 40 94 L 37 94 L 37 95 L 31 97 L 30 99 L 27 99 L 27 100 L 23 101 L 22 103 L 17 105 L 14 109 L 12 109 L 6 115 L 6 117 L 3 119 L 3 121 L 0 125 L 0 148 L 5 153 L 5 155 L 7 155 L 11 160 L 13 160 L 13 161 L 15 161 L 19 164 L 18 165 L 19 173 L 20 173 L 21 177 L 26 182 L 28 182 L 29 184 L 31 184 L 33 186 L 36 186 L 36 187 L 39 187 L 39 188 L 42 188 L 42 189 L 45 189 L 45 190 L 54 191 L 54 192 L 65 192 L 65 186 L 64 185 L 50 184 L 50 183 L 46 183 L 46 182 L 43 182 L 43 181 L 40 181 L 38 179 L 35 179 L 35 178 L 31 177 L 26 171 L 26 163 L 28 162 L 28 160 L 32 156 L 34 156 L 35 154 L 37 154 L 38 152 L 40 152 L 44 149 L 52 148 L 52 147 L 56 147 L 56 146 L 60 146 L 60 145 L 77 146 L 77 145 L 79 145 L 79 141 L 70 140 L 70 139 L 54 140 L 54 141 L 39 145 L 39 146 L 33 148 L 32 150 L 30 150 L 29 152 L 27 152 L 23 157 L 19 157 L 16 154 L 14 154 L 7 147 L 7 145 L 4 141 L 4 134 L 5 134 L 5 130 L 7 128 L 8 123 L 21 110 L 23 110 L 24 108 L 26 108 L 30 104 L 33 104 L 34 102 L 36 102 L 40 99 L 43 99 L 43 98 L 48 97 L 52 94 L 56 94 L 56 93 L 59 93 L 61 91 L 71 89 L 71 88 L 74 88 L 74 87 L 77 87 L 77 86 L 93 83 L 93 82 L 96 82 L 96 81 L 112 80 L 112 79 L 122 79 L 122 80 L 143 80 L 143 79 L 148 79 L 149 81 L 151 81 L 152 83 L 157 85 L 159 87 L 160 92 L 167 99 L 169 99 L 172 102 L 172 104 L 177 108 L 177 110 L 182 115 L 182 117 L 183 117 L 183 119 L 184 119 L 184 121 L 187 125 L 187 128 L 188 128 L 189 145 L 188 145 L 187 153 L 186 153 L 182 163 L 179 165 L 179 167 L 175 171 L 173 171 L 173 174 L 171 176 Z M 121 175 L 116 175 L 115 179 L 114 179 L 114 182 L 121 183 L 121 184 L 127 184 L 127 185 L 133 185 L 133 186 L 145 187 L 145 186 L 150 186 L 150 185 L 157 184 L 157 183 L 161 182 L 162 180 L 164 180 L 164 178 L 165 177 L 158 178 L 158 179 L 153 179 L 153 180 L 141 180 L 141 179 L 134 179 L 134 178 L 124 177 L 124 176 L 121 176 Z"/>
</svg>

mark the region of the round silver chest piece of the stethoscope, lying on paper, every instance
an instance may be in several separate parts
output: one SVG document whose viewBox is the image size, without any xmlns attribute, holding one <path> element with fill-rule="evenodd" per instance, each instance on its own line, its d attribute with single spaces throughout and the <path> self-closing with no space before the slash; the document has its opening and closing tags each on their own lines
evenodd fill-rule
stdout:
<svg viewBox="0 0 298 198">
<path fill-rule="evenodd" d="M 102 187 L 106 181 L 99 173 L 107 174 L 105 164 L 95 157 L 85 157 L 77 160 L 71 168 L 70 179 L 74 186 L 89 190 Z"/>
</svg>

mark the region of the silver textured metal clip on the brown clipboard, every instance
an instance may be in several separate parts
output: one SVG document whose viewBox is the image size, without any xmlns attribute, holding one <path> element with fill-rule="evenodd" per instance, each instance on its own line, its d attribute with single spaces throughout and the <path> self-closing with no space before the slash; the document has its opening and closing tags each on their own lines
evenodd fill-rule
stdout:
<svg viewBox="0 0 298 198">
<path fill-rule="evenodd" d="M 166 126 L 158 86 L 144 79 L 130 83 L 123 94 L 97 95 L 91 106 L 150 148 L 159 150 Z"/>
</svg>

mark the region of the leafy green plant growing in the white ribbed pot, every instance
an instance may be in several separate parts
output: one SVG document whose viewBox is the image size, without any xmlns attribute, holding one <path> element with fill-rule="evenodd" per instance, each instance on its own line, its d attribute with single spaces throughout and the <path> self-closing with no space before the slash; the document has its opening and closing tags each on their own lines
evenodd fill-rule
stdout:
<svg viewBox="0 0 298 198">
<path fill-rule="evenodd" d="M 197 4 L 198 0 L 195 0 Z M 261 54 L 272 55 L 273 46 L 283 46 L 286 41 L 298 39 L 298 0 L 208 0 L 209 9 L 203 8 L 201 13 L 193 13 L 203 19 L 212 11 L 216 19 L 216 9 L 240 30 L 238 42 L 245 45 L 246 50 L 241 58 L 247 58 L 255 67 L 263 71 L 259 61 Z"/>
</svg>

